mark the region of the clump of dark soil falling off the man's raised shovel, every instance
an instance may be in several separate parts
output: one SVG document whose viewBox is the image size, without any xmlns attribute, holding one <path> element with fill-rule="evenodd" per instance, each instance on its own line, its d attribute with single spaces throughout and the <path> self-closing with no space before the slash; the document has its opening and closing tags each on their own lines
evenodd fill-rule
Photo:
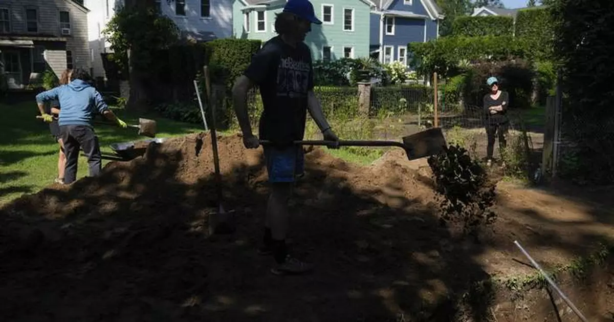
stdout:
<svg viewBox="0 0 614 322">
<path fill-rule="evenodd" d="M 440 202 L 440 221 L 462 222 L 465 235 L 478 238 L 483 226 L 494 222 L 496 183 L 467 150 L 451 145 L 428 159 Z"/>
</svg>

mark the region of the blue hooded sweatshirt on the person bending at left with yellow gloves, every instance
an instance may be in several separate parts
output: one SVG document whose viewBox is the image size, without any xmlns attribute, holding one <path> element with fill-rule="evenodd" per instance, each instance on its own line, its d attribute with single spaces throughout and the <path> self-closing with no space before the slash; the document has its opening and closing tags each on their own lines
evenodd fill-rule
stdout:
<svg viewBox="0 0 614 322">
<path fill-rule="evenodd" d="M 102 114 L 109 109 L 98 90 L 80 79 L 74 79 L 69 84 L 36 95 L 36 103 L 41 104 L 51 100 L 60 102 L 58 117 L 60 126 L 90 125 L 96 114 Z"/>
</svg>

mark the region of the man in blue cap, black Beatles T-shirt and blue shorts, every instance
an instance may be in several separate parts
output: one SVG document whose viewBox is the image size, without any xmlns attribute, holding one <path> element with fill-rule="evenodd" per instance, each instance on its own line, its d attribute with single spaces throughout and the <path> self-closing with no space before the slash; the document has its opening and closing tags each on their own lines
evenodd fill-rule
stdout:
<svg viewBox="0 0 614 322">
<path fill-rule="evenodd" d="M 236 114 L 247 149 L 260 146 L 252 133 L 246 107 L 249 88 L 257 85 L 264 105 L 259 136 L 271 144 L 264 146 L 266 170 L 271 183 L 261 254 L 273 254 L 274 274 L 305 273 L 311 264 L 290 257 L 286 249 L 288 201 L 296 175 L 303 174 L 303 149 L 293 141 L 303 139 L 306 111 L 316 121 L 326 141 L 339 139 L 330 129 L 322 107 L 313 92 L 311 50 L 303 42 L 311 23 L 321 24 L 308 0 L 289 0 L 275 19 L 279 35 L 270 39 L 254 55 L 243 76 L 233 88 Z"/>
</svg>

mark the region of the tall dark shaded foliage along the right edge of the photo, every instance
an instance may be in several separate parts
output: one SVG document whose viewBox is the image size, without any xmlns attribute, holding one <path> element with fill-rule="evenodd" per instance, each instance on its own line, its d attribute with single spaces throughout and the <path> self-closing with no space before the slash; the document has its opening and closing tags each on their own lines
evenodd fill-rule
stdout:
<svg viewBox="0 0 614 322">
<path fill-rule="evenodd" d="M 550 0 L 555 57 L 562 64 L 567 101 L 564 133 L 578 144 L 581 173 L 614 182 L 614 1 Z"/>
</svg>

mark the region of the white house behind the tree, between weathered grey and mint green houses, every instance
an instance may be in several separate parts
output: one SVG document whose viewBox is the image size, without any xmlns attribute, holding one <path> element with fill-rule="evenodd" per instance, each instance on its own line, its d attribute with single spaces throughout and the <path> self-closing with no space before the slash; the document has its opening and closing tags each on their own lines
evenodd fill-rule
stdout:
<svg viewBox="0 0 614 322">
<path fill-rule="evenodd" d="M 232 35 L 232 4 L 234 0 L 156 0 L 160 12 L 173 19 L 182 36 L 196 41 L 210 41 Z M 111 52 L 111 44 L 102 31 L 123 0 L 85 0 L 88 14 L 91 72 L 105 77 L 101 53 Z"/>
</svg>

